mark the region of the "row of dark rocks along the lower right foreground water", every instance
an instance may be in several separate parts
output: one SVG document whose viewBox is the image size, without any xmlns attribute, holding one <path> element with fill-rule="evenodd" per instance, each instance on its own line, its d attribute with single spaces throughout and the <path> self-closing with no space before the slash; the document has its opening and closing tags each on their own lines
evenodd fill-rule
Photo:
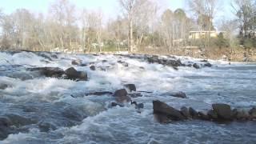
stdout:
<svg viewBox="0 0 256 144">
<path fill-rule="evenodd" d="M 181 110 L 176 110 L 164 102 L 153 101 L 153 110 L 155 118 L 161 123 L 186 119 L 201 119 L 214 122 L 251 121 L 256 119 L 256 108 L 252 108 L 251 110 L 232 110 L 229 105 L 223 103 L 213 104 L 212 110 L 196 111 L 191 107 L 187 108 L 184 106 Z"/>
</svg>

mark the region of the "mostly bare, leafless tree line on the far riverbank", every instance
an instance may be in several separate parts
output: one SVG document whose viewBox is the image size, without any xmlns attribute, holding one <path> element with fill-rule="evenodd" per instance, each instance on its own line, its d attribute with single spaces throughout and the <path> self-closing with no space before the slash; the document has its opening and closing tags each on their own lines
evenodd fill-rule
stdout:
<svg viewBox="0 0 256 144">
<path fill-rule="evenodd" d="M 69 0 L 56 0 L 48 14 L 18 9 L 0 12 L 2 50 L 166 50 L 186 46 L 256 47 L 256 1 L 230 3 L 235 18 L 218 22 L 225 33 L 190 39 L 190 31 L 212 31 L 219 11 L 218 0 L 190 0 L 189 10 L 162 10 L 154 0 L 118 0 L 120 14 L 105 19 L 101 10 L 80 10 Z M 237 33 L 238 31 L 238 33 Z"/>
</svg>

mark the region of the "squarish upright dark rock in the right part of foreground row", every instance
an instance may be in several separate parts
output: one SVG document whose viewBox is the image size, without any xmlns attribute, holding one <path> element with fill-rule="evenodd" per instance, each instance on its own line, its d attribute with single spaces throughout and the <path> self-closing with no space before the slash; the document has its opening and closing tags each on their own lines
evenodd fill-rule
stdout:
<svg viewBox="0 0 256 144">
<path fill-rule="evenodd" d="M 216 103 L 212 105 L 214 112 L 218 115 L 218 120 L 232 120 L 232 111 L 229 105 Z"/>
</svg>

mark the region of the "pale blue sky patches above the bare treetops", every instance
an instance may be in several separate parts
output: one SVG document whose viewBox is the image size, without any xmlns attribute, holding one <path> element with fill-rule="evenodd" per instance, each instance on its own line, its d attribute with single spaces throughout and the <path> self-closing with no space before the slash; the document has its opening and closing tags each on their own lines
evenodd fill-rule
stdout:
<svg viewBox="0 0 256 144">
<path fill-rule="evenodd" d="M 48 7 L 55 0 L 0 0 L 0 8 L 5 14 L 10 14 L 16 9 L 25 8 L 35 13 L 47 14 Z M 230 2 L 232 0 L 220 0 L 218 14 L 215 19 L 233 18 L 232 10 L 230 10 Z M 118 8 L 118 0 L 70 0 L 78 9 L 86 8 L 87 10 L 102 10 L 107 16 L 117 16 L 120 13 Z M 169 8 L 170 10 L 176 10 L 183 8 L 188 11 L 188 0 L 156 0 L 158 5 L 162 9 Z"/>
</svg>

